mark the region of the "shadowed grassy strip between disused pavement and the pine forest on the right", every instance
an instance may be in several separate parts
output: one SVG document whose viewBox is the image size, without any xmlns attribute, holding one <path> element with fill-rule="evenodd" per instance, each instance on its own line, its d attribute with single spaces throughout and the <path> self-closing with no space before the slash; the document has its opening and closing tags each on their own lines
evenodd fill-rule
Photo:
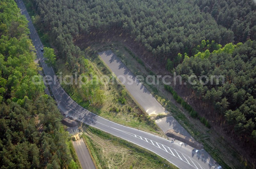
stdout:
<svg viewBox="0 0 256 169">
<path fill-rule="evenodd" d="M 144 63 L 138 62 L 139 58 L 125 44 L 119 40 L 112 40 L 108 43 L 91 42 L 90 48 L 98 51 L 112 50 L 122 62 L 135 74 L 155 75 Z M 223 167 L 223 168 L 247 168 L 245 160 L 236 149 L 228 143 L 221 133 L 213 128 L 207 128 L 199 119 L 193 119 L 182 105 L 177 103 L 173 96 L 164 89 L 164 84 L 144 86 L 170 113 L 158 115 L 155 119 L 173 116 L 198 142 L 204 145 L 204 149 Z"/>
</svg>

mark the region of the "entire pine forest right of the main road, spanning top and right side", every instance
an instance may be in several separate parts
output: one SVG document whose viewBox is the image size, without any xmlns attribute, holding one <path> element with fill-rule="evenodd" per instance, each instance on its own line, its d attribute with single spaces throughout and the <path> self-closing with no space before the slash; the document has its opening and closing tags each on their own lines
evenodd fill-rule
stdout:
<svg viewBox="0 0 256 169">
<path fill-rule="evenodd" d="M 26 0 L 70 72 L 84 73 L 77 46 L 119 35 L 156 70 L 223 75 L 217 85 L 175 90 L 251 156 L 256 149 L 256 6 L 251 0 Z M 199 79 L 197 79 L 198 81 Z"/>
</svg>

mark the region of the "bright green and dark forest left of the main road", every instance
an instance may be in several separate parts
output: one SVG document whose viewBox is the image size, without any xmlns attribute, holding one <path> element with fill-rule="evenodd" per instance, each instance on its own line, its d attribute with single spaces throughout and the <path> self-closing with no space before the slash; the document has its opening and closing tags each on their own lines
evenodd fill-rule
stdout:
<svg viewBox="0 0 256 169">
<path fill-rule="evenodd" d="M 76 168 L 55 101 L 32 82 L 42 77 L 28 21 L 14 0 L 0 4 L 0 168 Z"/>
</svg>

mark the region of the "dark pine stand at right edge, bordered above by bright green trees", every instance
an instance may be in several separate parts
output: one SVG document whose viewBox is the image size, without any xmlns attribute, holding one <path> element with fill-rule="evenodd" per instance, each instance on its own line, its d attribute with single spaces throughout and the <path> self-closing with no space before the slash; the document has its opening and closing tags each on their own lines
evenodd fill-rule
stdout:
<svg viewBox="0 0 256 169">
<path fill-rule="evenodd" d="M 201 110 L 202 115 L 226 129 L 230 136 L 241 144 L 256 143 L 256 42 L 248 40 L 244 44 L 227 44 L 214 52 L 199 52 L 186 58 L 175 71 L 182 75 L 188 85 L 177 88 L 188 100 Z M 195 75 L 189 85 L 188 77 Z M 200 76 L 209 77 L 209 83 L 202 85 Z M 216 80 L 210 77 L 222 75 Z M 251 142 L 252 141 L 252 142 Z M 254 154 L 255 152 L 251 150 Z"/>
</svg>

